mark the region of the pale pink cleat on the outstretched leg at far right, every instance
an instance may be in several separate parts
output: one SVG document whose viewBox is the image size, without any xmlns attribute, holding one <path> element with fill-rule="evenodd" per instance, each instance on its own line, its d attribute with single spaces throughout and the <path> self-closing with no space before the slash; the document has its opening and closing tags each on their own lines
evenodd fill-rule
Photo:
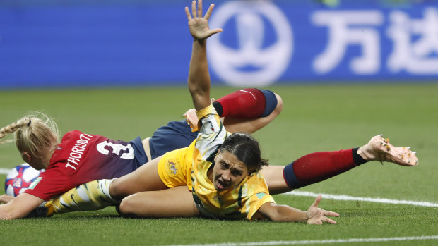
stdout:
<svg viewBox="0 0 438 246">
<path fill-rule="evenodd" d="M 383 135 L 372 137 L 371 140 L 357 150 L 357 154 L 367 161 L 393 162 L 401 166 L 417 166 L 418 158 L 410 147 L 394 147 Z"/>
</svg>

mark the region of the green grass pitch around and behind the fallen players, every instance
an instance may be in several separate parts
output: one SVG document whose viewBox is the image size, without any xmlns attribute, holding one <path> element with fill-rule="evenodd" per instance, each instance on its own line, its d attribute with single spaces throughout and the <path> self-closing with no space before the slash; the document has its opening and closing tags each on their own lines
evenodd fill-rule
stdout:
<svg viewBox="0 0 438 246">
<path fill-rule="evenodd" d="M 396 146 L 418 152 L 414 168 L 373 161 L 300 190 L 438 203 L 438 84 L 278 85 L 283 112 L 254 136 L 271 164 L 285 165 L 317 151 L 360 147 L 384 133 Z M 236 90 L 212 87 L 219 98 Z M 62 133 L 82 130 L 114 139 L 150 136 L 191 107 L 187 87 L 8 90 L 0 92 L 0 127 L 28 111 L 52 116 Z M 23 161 L 14 144 L 0 146 L 0 168 Z M 0 192 L 4 192 L 4 175 Z M 313 197 L 276 195 L 278 204 L 307 209 Z M 438 208 L 323 199 L 338 224 L 309 226 L 270 221 L 124 219 L 113 208 L 0 221 L 0 245 L 202 245 L 394 238 L 438 235 Z M 355 245 L 437 245 L 438 240 L 355 242 Z M 251 244 L 250 244 L 251 245 Z M 254 244 L 252 244 L 254 245 Z M 331 244 L 333 245 L 333 244 Z M 344 244 L 345 245 L 345 244 Z"/>
</svg>

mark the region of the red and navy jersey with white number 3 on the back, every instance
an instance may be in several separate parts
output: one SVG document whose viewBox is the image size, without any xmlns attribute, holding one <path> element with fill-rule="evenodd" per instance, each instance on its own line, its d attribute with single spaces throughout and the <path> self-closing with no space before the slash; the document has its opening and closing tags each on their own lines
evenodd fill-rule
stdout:
<svg viewBox="0 0 438 246">
<path fill-rule="evenodd" d="M 124 142 L 73 130 L 62 137 L 46 171 L 25 193 L 49 200 L 83 183 L 124 176 L 146 161 L 140 137 Z"/>
</svg>

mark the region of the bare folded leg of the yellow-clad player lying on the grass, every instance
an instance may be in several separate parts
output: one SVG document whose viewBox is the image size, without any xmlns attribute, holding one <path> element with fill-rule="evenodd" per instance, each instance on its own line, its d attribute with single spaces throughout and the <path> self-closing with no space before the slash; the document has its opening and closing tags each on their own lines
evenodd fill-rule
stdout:
<svg viewBox="0 0 438 246">
<path fill-rule="evenodd" d="M 199 215 L 187 186 L 138 192 L 122 199 L 119 212 L 124 216 L 147 218 L 191 217 Z"/>
</svg>

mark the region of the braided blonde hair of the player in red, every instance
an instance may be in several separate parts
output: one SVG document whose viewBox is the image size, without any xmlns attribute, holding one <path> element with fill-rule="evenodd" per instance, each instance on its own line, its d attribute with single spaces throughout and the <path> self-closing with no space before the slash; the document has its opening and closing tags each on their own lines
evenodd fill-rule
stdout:
<svg viewBox="0 0 438 246">
<path fill-rule="evenodd" d="M 58 125 L 44 113 L 35 112 L 0 129 L 0 140 L 15 132 L 18 150 L 29 150 L 35 156 L 41 150 L 51 150 L 53 141 L 59 142 Z M 4 141 L 6 142 L 6 141 Z"/>
</svg>

